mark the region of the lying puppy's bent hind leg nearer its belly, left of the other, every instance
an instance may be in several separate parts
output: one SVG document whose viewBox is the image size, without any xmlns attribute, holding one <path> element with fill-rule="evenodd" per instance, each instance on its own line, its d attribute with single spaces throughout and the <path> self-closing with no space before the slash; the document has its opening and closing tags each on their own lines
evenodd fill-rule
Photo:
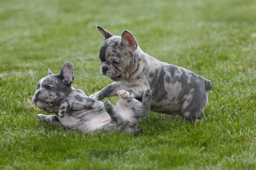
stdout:
<svg viewBox="0 0 256 170">
<path fill-rule="evenodd" d="M 105 111 L 111 117 L 111 123 L 116 125 L 116 130 L 120 132 L 123 131 L 128 124 L 127 120 L 116 111 L 114 106 L 108 100 L 104 102 L 104 107 Z"/>
</svg>

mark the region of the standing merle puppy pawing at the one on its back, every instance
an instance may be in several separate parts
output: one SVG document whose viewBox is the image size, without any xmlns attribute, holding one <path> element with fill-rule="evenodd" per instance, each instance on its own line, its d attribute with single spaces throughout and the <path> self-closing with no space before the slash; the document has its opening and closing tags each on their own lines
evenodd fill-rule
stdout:
<svg viewBox="0 0 256 170">
<path fill-rule="evenodd" d="M 144 89 L 150 88 L 152 111 L 184 116 L 187 121 L 202 117 L 207 91 L 212 88 L 208 79 L 146 54 L 129 31 L 123 31 L 120 37 L 100 26 L 97 29 L 105 38 L 99 50 L 100 73 L 113 83 L 91 98 L 101 100 L 119 95 L 141 100 Z"/>
</svg>

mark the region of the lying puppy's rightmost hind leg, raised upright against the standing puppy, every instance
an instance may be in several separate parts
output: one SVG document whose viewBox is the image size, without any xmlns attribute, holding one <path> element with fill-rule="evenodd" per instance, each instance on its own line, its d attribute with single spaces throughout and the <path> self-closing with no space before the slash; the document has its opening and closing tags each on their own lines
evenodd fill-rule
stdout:
<svg viewBox="0 0 256 170">
<path fill-rule="evenodd" d="M 146 88 L 143 93 L 142 102 L 140 103 L 139 110 L 136 112 L 137 116 L 142 119 L 148 119 L 148 115 L 150 112 L 150 106 L 152 101 L 152 95 L 149 88 Z"/>
</svg>

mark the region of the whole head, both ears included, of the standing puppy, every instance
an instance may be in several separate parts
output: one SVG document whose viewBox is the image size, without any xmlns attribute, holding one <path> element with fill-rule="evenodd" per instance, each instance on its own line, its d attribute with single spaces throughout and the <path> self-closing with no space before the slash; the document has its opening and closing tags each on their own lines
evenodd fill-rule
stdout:
<svg viewBox="0 0 256 170">
<path fill-rule="evenodd" d="M 97 29 L 105 38 L 99 50 L 101 60 L 100 72 L 113 81 L 128 79 L 134 67 L 137 67 L 137 60 L 134 52 L 138 47 L 135 37 L 127 30 L 121 36 L 114 36 L 104 28 L 97 26 Z"/>
</svg>

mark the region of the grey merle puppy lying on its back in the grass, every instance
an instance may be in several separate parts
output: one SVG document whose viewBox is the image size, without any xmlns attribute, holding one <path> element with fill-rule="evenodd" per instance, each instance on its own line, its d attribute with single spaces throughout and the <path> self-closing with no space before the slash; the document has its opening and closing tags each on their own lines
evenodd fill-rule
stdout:
<svg viewBox="0 0 256 170">
<path fill-rule="evenodd" d="M 95 130 L 117 130 L 138 134 L 139 118 L 147 119 L 150 111 L 151 92 L 145 89 L 142 102 L 137 99 L 119 99 L 116 105 L 106 100 L 104 103 L 87 97 L 83 91 L 71 87 L 74 68 L 66 62 L 60 74 L 48 75 L 39 80 L 32 101 L 46 113 L 38 114 L 44 122 L 63 125 L 82 133 Z"/>
</svg>

